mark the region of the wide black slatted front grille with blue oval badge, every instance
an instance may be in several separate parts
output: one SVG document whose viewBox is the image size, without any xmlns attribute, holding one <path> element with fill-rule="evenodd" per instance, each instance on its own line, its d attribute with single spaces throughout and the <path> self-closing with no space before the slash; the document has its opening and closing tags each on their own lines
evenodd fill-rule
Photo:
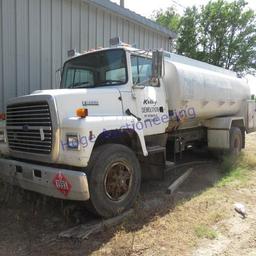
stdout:
<svg viewBox="0 0 256 256">
<path fill-rule="evenodd" d="M 9 105 L 6 114 L 10 149 L 36 154 L 51 153 L 52 121 L 47 102 Z"/>
</svg>

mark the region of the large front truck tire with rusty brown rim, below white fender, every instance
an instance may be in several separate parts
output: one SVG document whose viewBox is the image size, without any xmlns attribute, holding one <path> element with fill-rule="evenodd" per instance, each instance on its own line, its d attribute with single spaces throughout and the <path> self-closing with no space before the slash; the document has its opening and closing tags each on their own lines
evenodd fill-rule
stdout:
<svg viewBox="0 0 256 256">
<path fill-rule="evenodd" d="M 140 190 L 141 170 L 134 152 L 126 146 L 98 147 L 88 166 L 89 210 L 104 218 L 132 207 Z"/>
</svg>

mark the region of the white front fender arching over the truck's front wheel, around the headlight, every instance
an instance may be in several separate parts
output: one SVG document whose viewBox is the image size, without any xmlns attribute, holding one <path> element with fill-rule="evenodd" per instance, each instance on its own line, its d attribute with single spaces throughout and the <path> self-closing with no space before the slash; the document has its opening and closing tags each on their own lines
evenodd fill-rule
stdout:
<svg viewBox="0 0 256 256">
<path fill-rule="evenodd" d="M 98 136 L 108 130 L 134 130 L 138 135 L 143 155 L 148 156 L 144 132 L 136 128 L 137 122 L 133 116 L 88 116 L 64 119 L 61 127 L 58 163 L 65 164 L 68 159 L 69 165 L 86 167 Z M 68 149 L 67 135 L 78 136 L 79 150 Z"/>
</svg>

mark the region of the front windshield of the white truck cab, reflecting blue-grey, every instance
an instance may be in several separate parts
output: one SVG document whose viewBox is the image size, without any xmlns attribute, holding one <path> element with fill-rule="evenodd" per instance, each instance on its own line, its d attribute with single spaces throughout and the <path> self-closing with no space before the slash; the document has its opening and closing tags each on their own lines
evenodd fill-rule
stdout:
<svg viewBox="0 0 256 256">
<path fill-rule="evenodd" d="M 93 88 L 127 82 L 126 55 L 123 49 L 93 52 L 64 65 L 62 88 Z"/>
</svg>

